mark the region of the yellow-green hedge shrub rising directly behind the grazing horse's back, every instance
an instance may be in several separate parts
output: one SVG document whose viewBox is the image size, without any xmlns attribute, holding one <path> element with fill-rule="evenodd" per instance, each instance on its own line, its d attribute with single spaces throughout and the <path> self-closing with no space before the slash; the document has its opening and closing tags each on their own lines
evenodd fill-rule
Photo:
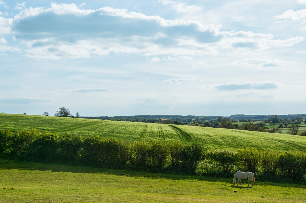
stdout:
<svg viewBox="0 0 306 203">
<path fill-rule="evenodd" d="M 256 173 L 261 158 L 260 151 L 255 148 L 241 148 L 238 153 L 241 165 L 245 170 Z"/>
</svg>

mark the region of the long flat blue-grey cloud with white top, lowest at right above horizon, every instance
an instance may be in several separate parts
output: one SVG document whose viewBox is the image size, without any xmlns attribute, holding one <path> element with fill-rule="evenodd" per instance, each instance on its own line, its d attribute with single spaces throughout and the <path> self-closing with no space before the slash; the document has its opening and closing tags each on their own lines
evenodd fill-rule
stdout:
<svg viewBox="0 0 306 203">
<path fill-rule="evenodd" d="M 236 81 L 229 83 L 222 83 L 215 85 L 218 90 L 237 90 L 237 89 L 270 89 L 278 88 L 281 85 L 279 82 L 275 81 L 262 81 L 262 82 L 252 82 L 252 81 Z"/>
</svg>

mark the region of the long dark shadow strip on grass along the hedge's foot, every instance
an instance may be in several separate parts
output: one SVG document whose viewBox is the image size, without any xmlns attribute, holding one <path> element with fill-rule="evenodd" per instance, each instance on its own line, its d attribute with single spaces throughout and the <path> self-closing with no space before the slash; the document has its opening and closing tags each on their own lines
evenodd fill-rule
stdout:
<svg viewBox="0 0 306 203">
<path fill-rule="evenodd" d="M 237 190 L 252 188 L 247 187 L 248 180 L 241 180 L 242 186 L 233 186 L 232 178 L 215 178 L 207 176 L 186 176 L 186 175 L 173 175 L 173 174 L 161 174 L 161 173 L 147 173 L 141 171 L 128 171 L 128 170 L 115 170 L 115 169 L 101 169 L 91 168 L 85 166 L 69 166 L 61 164 L 46 164 L 35 163 L 28 161 L 7 161 L 0 160 L 0 170 L 24 170 L 24 171 L 51 171 L 51 172 L 70 172 L 70 173 L 100 173 L 114 176 L 126 176 L 126 177 L 144 177 L 151 179 L 170 179 L 170 180 L 197 180 L 207 182 L 219 182 L 220 184 L 229 184 L 232 188 Z M 288 184 L 288 183 L 271 183 L 271 182 L 255 182 L 253 187 L 256 186 L 278 186 L 278 187 L 294 187 L 306 189 L 305 185 Z"/>
</svg>

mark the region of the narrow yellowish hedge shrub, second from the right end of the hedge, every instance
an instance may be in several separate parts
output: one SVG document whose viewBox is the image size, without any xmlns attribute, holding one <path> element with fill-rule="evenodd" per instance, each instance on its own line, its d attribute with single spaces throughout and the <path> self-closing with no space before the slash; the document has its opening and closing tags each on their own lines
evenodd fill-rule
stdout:
<svg viewBox="0 0 306 203">
<path fill-rule="evenodd" d="M 270 173 L 275 175 L 275 172 L 278 167 L 278 158 L 279 158 L 279 152 L 275 150 L 262 150 L 261 151 L 261 162 L 260 165 L 263 167 L 263 172 Z"/>
</svg>

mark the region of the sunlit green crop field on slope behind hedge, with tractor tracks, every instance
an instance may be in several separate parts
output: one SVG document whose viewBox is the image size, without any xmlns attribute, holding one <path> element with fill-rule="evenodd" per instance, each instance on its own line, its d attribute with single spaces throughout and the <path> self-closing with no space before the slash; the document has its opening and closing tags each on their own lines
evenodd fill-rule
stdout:
<svg viewBox="0 0 306 203">
<path fill-rule="evenodd" d="M 186 125 L 164 125 L 82 118 L 0 114 L 0 129 L 39 129 L 81 136 L 114 137 L 126 140 L 180 140 L 204 143 L 210 149 L 255 147 L 306 152 L 306 137 L 245 130 L 216 129 Z"/>
</svg>

